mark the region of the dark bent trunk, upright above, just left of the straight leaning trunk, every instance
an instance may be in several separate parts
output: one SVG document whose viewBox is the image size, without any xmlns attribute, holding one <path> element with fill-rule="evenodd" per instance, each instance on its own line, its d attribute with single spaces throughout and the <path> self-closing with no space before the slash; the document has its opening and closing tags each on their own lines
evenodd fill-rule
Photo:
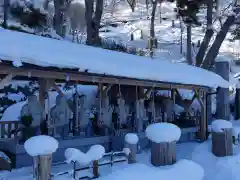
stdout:
<svg viewBox="0 0 240 180">
<path fill-rule="evenodd" d="M 207 31 L 205 33 L 205 36 L 203 38 L 203 41 L 196 56 L 196 66 L 200 66 L 202 64 L 208 45 L 214 34 L 212 29 L 212 14 L 213 14 L 213 0 L 209 0 L 209 3 L 207 5 Z"/>
</svg>

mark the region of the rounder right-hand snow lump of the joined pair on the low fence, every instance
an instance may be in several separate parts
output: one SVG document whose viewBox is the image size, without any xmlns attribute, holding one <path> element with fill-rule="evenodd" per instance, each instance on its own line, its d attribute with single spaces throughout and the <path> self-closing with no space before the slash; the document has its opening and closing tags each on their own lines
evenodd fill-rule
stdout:
<svg viewBox="0 0 240 180">
<path fill-rule="evenodd" d="M 100 160 L 105 154 L 105 148 L 102 145 L 93 145 L 87 152 L 87 156 L 92 160 Z"/>
</svg>

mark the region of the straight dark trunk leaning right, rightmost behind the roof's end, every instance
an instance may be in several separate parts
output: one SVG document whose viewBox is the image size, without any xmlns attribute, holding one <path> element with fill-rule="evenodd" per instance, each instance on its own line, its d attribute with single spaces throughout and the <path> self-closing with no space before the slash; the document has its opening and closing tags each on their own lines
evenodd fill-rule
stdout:
<svg viewBox="0 0 240 180">
<path fill-rule="evenodd" d="M 235 16 L 228 16 L 227 20 L 225 21 L 225 23 L 223 24 L 220 32 L 217 34 L 213 45 L 211 46 L 211 48 L 209 49 L 209 51 L 207 52 L 207 55 L 203 61 L 202 64 L 202 68 L 204 69 L 209 69 L 211 66 L 214 65 L 215 63 L 215 58 L 217 57 L 217 55 L 219 54 L 219 49 L 230 29 L 230 27 L 233 25 L 235 21 Z"/>
</svg>

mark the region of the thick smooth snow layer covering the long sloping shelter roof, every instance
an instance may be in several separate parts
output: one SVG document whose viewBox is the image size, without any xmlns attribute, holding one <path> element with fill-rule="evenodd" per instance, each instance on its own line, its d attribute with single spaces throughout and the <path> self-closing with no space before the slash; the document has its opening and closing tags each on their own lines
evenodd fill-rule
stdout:
<svg viewBox="0 0 240 180">
<path fill-rule="evenodd" d="M 112 75 L 139 80 L 228 87 L 219 75 L 186 64 L 151 60 L 0 28 L 0 59 L 14 66 L 29 63 L 41 67 L 79 69 L 79 72 Z"/>
</svg>

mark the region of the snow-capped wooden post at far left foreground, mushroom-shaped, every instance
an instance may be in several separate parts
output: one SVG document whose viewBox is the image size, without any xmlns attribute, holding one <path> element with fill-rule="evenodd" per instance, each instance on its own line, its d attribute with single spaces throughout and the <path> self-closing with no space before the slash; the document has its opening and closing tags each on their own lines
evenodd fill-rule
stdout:
<svg viewBox="0 0 240 180">
<path fill-rule="evenodd" d="M 34 136 L 24 143 L 26 152 L 33 157 L 33 178 L 51 180 L 52 153 L 58 148 L 58 141 L 50 136 Z"/>
</svg>

